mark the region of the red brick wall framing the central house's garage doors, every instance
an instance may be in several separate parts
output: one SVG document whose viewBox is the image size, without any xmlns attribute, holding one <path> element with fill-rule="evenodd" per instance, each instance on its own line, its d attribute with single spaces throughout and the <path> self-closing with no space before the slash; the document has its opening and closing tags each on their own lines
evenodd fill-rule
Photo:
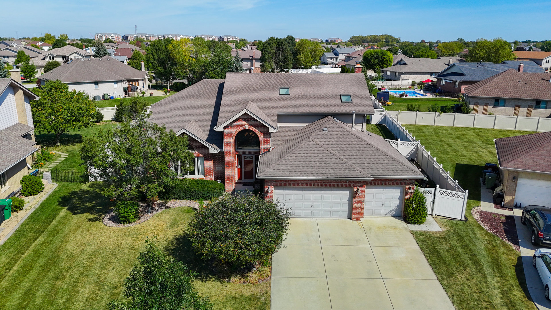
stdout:
<svg viewBox="0 0 551 310">
<path fill-rule="evenodd" d="M 304 187 L 335 187 L 352 188 L 352 220 L 359 221 L 364 217 L 365 186 L 370 185 L 402 185 L 404 199 L 411 197 L 415 180 L 375 179 L 371 181 L 345 180 L 264 180 L 264 199 L 274 198 L 274 186 L 304 186 Z M 403 205 L 403 204 L 402 204 Z"/>
</svg>

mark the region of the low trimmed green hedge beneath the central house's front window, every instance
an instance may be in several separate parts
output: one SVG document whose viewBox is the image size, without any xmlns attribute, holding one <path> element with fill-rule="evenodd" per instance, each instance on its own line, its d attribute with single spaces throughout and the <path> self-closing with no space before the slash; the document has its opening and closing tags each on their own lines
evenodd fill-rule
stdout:
<svg viewBox="0 0 551 310">
<path fill-rule="evenodd" d="M 161 199 L 210 200 L 224 194 L 222 183 L 203 179 L 179 179 L 176 184 Z"/>
</svg>

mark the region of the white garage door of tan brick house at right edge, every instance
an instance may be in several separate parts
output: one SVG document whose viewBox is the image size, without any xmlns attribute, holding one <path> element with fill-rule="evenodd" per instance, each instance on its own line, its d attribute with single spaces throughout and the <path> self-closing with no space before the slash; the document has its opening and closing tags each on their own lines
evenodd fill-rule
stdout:
<svg viewBox="0 0 551 310">
<path fill-rule="evenodd" d="M 515 204 L 551 207 L 551 181 L 518 178 Z"/>
</svg>

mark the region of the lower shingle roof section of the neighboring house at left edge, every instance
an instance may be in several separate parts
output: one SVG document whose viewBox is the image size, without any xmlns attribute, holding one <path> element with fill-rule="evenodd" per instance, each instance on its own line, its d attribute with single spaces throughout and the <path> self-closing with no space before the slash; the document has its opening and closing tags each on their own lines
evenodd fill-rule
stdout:
<svg viewBox="0 0 551 310">
<path fill-rule="evenodd" d="M 0 156 L 0 173 L 3 173 L 12 165 L 21 161 L 30 154 L 36 152 L 36 142 L 23 138 L 26 133 L 34 128 L 21 123 L 9 126 L 0 130 L 0 145 L 2 145 L 2 156 Z"/>
</svg>

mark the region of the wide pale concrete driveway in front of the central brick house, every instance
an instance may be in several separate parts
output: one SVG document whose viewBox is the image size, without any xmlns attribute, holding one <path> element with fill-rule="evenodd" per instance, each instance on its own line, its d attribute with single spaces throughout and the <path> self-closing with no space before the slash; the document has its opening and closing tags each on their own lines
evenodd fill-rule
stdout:
<svg viewBox="0 0 551 310">
<path fill-rule="evenodd" d="M 291 219 L 271 309 L 455 309 L 401 219 Z"/>
</svg>

